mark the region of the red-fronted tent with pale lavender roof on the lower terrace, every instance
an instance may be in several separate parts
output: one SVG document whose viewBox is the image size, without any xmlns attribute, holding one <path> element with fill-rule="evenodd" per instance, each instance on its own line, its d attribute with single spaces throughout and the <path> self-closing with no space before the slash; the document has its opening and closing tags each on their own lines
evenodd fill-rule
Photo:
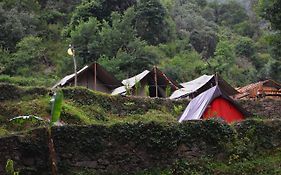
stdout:
<svg viewBox="0 0 281 175">
<path fill-rule="evenodd" d="M 250 114 L 232 100 L 219 86 L 214 86 L 190 101 L 179 122 L 221 118 L 227 123 L 240 121 Z"/>
</svg>

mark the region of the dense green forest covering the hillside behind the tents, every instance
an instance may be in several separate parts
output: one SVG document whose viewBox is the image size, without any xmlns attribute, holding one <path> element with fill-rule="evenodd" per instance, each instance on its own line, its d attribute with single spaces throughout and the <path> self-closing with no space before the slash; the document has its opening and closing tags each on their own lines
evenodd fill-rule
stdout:
<svg viewBox="0 0 281 175">
<path fill-rule="evenodd" d="M 123 79 L 281 81 L 280 0 L 1 0 L 0 81 L 46 85 L 97 61 Z"/>
</svg>

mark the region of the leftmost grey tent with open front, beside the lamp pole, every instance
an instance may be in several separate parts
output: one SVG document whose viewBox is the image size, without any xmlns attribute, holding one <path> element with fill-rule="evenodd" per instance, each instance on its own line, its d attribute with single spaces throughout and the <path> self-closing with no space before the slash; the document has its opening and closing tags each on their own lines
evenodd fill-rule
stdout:
<svg viewBox="0 0 281 175">
<path fill-rule="evenodd" d="M 54 85 L 53 88 L 74 86 L 74 79 L 74 73 L 67 75 Z M 112 90 L 121 85 L 120 81 L 98 63 L 87 65 L 77 72 L 77 86 L 111 94 Z"/>
</svg>

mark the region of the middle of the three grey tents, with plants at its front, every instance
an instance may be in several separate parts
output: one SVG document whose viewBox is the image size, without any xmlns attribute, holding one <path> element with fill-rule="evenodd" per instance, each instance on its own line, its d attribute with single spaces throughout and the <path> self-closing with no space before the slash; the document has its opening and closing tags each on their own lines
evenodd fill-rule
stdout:
<svg viewBox="0 0 281 175">
<path fill-rule="evenodd" d="M 122 81 L 123 86 L 116 88 L 112 95 L 135 95 L 149 97 L 169 97 L 179 85 L 154 67 Z"/>
</svg>

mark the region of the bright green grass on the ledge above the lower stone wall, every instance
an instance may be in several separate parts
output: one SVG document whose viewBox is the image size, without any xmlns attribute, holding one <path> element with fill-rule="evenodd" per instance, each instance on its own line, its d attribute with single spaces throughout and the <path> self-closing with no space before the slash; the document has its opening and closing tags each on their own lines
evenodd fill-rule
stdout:
<svg viewBox="0 0 281 175">
<path fill-rule="evenodd" d="M 110 103 L 111 96 L 97 95 L 99 98 L 94 100 L 101 100 L 101 102 L 97 101 L 92 104 L 80 104 L 66 97 L 63 102 L 61 121 L 66 124 L 77 125 L 113 125 L 116 123 L 136 123 L 139 121 L 176 122 L 175 114 L 168 111 L 166 106 L 161 106 L 159 109 L 143 110 L 142 107 L 137 107 L 135 103 L 125 101 L 124 104 L 122 102 L 117 104 L 119 105 L 117 106 L 118 110 L 123 112 L 120 114 L 114 107 L 110 110 L 108 106 L 104 105 L 104 103 Z M 10 124 L 8 120 L 21 115 L 35 115 L 49 119 L 50 99 L 51 97 L 48 94 L 34 96 L 27 93 L 21 99 L 15 98 L 2 101 L 0 103 L 0 122 L 11 132 L 20 131 L 28 127 L 38 127 L 38 125 L 19 127 Z"/>
</svg>

